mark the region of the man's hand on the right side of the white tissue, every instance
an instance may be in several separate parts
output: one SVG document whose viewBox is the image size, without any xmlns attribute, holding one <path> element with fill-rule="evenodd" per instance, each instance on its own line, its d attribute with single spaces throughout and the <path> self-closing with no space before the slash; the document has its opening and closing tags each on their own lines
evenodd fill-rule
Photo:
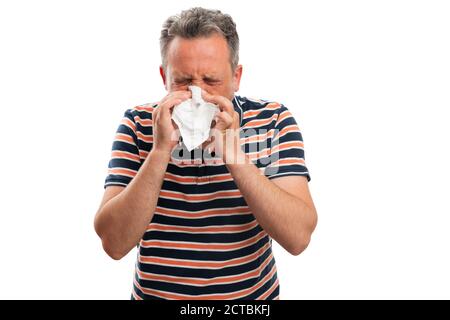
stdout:
<svg viewBox="0 0 450 320">
<path fill-rule="evenodd" d="M 214 151 L 224 162 L 236 159 L 235 155 L 241 150 L 239 138 L 239 114 L 234 111 L 233 103 L 225 97 L 212 95 L 202 90 L 202 98 L 206 102 L 214 103 L 219 107 L 220 112 L 214 119 L 215 125 L 211 128 L 208 144 L 210 152 Z"/>
</svg>

